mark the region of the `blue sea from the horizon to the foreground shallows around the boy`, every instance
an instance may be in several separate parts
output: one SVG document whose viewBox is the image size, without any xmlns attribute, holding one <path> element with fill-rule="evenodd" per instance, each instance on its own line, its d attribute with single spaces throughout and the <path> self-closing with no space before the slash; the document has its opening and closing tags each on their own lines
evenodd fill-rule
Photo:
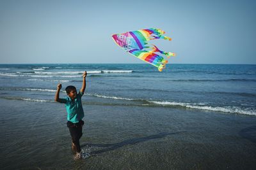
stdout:
<svg viewBox="0 0 256 170">
<path fill-rule="evenodd" d="M 74 160 L 58 83 L 82 97 Z M 255 169 L 256 65 L 0 64 L 1 169 Z"/>
</svg>

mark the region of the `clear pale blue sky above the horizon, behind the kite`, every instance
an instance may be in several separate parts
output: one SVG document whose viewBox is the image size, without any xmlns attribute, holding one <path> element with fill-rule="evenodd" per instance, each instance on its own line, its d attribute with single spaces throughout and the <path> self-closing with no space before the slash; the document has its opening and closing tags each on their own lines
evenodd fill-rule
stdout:
<svg viewBox="0 0 256 170">
<path fill-rule="evenodd" d="M 256 1 L 0 1 L 1 64 L 143 63 L 111 34 L 156 27 L 179 64 L 256 64 Z"/>
</svg>

